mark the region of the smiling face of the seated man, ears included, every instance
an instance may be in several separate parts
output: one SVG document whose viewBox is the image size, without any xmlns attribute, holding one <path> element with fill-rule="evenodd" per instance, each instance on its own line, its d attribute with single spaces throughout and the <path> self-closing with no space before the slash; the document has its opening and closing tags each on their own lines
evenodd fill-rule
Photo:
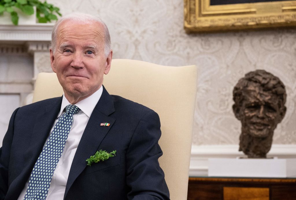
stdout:
<svg viewBox="0 0 296 200">
<path fill-rule="evenodd" d="M 65 97 L 77 103 L 96 92 L 108 74 L 112 51 L 104 55 L 104 32 L 98 22 L 63 21 L 57 31 L 56 51 L 50 50 L 52 70 L 57 73 Z"/>
</svg>

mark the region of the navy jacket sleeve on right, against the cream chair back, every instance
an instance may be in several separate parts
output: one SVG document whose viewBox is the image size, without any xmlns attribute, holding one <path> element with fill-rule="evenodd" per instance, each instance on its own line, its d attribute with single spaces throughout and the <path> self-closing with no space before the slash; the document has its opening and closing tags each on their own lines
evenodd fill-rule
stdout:
<svg viewBox="0 0 296 200">
<path fill-rule="evenodd" d="M 159 116 L 150 110 L 139 121 L 126 155 L 126 181 L 131 188 L 128 199 L 169 199 L 164 173 L 158 162 L 163 154 L 158 145 L 160 135 Z"/>
</svg>

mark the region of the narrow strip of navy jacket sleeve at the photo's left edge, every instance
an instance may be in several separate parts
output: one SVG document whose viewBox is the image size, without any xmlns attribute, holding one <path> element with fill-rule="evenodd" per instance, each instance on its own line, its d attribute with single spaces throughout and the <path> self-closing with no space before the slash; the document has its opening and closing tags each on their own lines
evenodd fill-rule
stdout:
<svg viewBox="0 0 296 200">
<path fill-rule="evenodd" d="M 4 136 L 2 147 L 0 148 L 0 200 L 4 199 L 8 190 L 8 165 L 10 147 L 13 138 L 13 127 L 15 115 L 18 108 L 12 113 L 7 132 Z"/>
</svg>

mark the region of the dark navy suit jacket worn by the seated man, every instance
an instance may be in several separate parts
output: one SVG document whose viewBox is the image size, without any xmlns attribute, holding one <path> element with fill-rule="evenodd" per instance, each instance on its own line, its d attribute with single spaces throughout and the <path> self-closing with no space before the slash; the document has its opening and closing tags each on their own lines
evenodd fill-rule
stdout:
<svg viewBox="0 0 296 200">
<path fill-rule="evenodd" d="M 15 110 L 0 148 L 0 200 L 20 195 L 49 136 L 62 97 Z M 110 126 L 100 126 L 101 123 Z M 109 95 L 103 89 L 83 132 L 67 180 L 64 199 L 169 199 L 158 163 L 160 121 L 153 110 Z M 116 156 L 86 165 L 97 150 Z"/>
</svg>

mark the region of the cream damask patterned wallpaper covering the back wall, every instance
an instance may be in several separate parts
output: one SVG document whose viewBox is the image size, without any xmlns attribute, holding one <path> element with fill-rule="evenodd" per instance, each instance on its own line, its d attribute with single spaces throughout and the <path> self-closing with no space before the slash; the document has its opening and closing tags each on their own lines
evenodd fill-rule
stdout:
<svg viewBox="0 0 296 200">
<path fill-rule="evenodd" d="M 194 145 L 238 144 L 240 122 L 232 90 L 249 71 L 265 69 L 287 89 L 287 113 L 274 144 L 296 144 L 296 30 L 274 29 L 187 35 L 183 0 L 48 0 L 61 8 L 101 17 L 111 34 L 114 58 L 199 67 Z"/>
</svg>

